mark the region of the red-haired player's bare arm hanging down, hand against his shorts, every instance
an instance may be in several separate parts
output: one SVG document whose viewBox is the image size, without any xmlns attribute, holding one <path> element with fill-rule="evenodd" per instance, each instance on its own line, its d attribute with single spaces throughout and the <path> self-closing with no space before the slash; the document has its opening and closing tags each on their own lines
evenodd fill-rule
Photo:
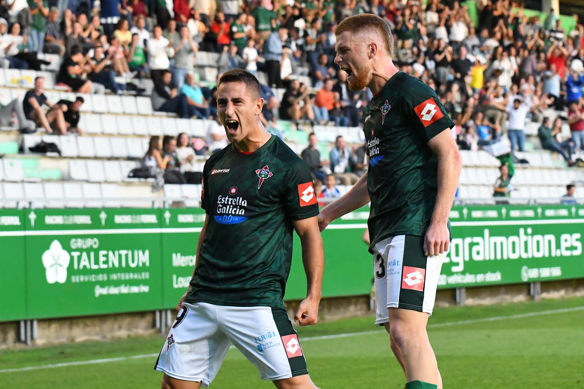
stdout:
<svg viewBox="0 0 584 389">
<path fill-rule="evenodd" d="M 436 205 L 424 239 L 425 255 L 432 256 L 448 251 L 450 246 L 448 216 L 458 187 L 463 162 L 449 128 L 430 139 L 427 144 L 438 157 Z"/>
</svg>

